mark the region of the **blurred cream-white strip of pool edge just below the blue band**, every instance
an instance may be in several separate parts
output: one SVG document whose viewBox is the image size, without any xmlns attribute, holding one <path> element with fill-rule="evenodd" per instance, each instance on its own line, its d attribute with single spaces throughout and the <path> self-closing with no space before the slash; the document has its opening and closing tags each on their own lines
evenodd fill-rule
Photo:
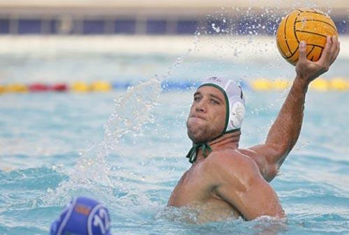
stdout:
<svg viewBox="0 0 349 235">
<path fill-rule="evenodd" d="M 349 36 L 340 36 L 342 59 L 349 58 Z M 106 43 L 107 42 L 107 45 Z M 280 59 L 274 36 L 1 36 L 0 54 L 104 52 L 227 60 Z M 45 48 L 45 51 L 43 51 Z"/>
</svg>

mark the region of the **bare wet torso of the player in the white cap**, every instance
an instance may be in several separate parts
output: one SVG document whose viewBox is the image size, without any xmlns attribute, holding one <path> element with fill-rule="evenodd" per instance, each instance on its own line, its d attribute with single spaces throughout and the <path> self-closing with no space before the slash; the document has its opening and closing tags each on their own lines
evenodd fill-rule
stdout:
<svg viewBox="0 0 349 235">
<path fill-rule="evenodd" d="M 213 144 L 212 149 L 206 158 L 198 151 L 168 206 L 193 210 L 199 223 L 239 216 L 251 220 L 260 214 L 283 217 L 276 193 L 262 177 L 260 156 L 233 143 Z"/>
</svg>

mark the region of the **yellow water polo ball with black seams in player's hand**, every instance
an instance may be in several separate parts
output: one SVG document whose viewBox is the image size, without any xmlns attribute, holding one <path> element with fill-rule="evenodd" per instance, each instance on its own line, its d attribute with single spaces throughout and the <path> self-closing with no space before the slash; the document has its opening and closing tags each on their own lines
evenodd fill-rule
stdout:
<svg viewBox="0 0 349 235">
<path fill-rule="evenodd" d="M 320 10 L 299 8 L 281 20 L 276 31 L 276 45 L 281 56 L 295 66 L 300 41 L 306 41 L 306 57 L 311 61 L 318 61 L 325 48 L 327 36 L 338 36 L 331 18 Z"/>
</svg>

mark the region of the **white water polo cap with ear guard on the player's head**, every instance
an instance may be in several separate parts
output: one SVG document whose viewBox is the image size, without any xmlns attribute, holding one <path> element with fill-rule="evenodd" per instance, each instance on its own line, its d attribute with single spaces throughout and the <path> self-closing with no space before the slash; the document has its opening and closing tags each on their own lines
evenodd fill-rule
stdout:
<svg viewBox="0 0 349 235">
<path fill-rule="evenodd" d="M 223 77 L 209 77 L 205 82 L 202 82 L 199 88 L 202 86 L 214 86 L 222 91 L 225 97 L 227 112 L 225 116 L 225 128 L 222 135 L 239 130 L 246 114 L 245 98 L 241 87 L 232 79 Z"/>
</svg>

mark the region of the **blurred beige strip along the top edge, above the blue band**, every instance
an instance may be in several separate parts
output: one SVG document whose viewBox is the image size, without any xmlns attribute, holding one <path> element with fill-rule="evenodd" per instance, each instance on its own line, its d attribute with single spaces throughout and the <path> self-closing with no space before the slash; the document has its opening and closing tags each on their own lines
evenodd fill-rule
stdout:
<svg viewBox="0 0 349 235">
<path fill-rule="evenodd" d="M 206 13 L 207 10 L 215 10 L 217 8 L 299 8 L 302 6 L 313 6 L 318 8 L 329 9 L 332 8 L 334 13 L 345 14 L 348 13 L 348 1 L 346 0 L 318 0 L 312 4 L 302 4 L 299 1 L 279 1 L 279 0 L 0 0 L 0 11 L 6 10 L 102 10 L 104 12 L 110 11 L 151 11 L 156 14 L 158 10 L 166 10 L 169 14 L 178 14 L 181 10 L 190 11 L 193 14 Z M 348 14 L 347 14 L 348 15 Z"/>
</svg>

